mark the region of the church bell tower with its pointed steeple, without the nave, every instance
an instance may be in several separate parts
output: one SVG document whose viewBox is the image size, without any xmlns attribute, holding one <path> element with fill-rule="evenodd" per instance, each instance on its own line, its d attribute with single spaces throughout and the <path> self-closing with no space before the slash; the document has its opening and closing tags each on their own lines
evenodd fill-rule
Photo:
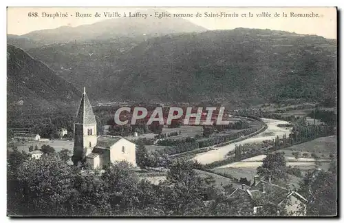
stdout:
<svg viewBox="0 0 344 223">
<path fill-rule="evenodd" d="M 72 161 L 77 165 L 97 144 L 97 123 L 87 94 L 83 92 L 74 123 L 74 149 Z"/>
</svg>

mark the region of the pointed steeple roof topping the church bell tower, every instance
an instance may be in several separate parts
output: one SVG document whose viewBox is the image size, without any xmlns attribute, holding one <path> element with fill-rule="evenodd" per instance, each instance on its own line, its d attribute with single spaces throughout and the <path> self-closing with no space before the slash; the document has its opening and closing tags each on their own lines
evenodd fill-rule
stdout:
<svg viewBox="0 0 344 223">
<path fill-rule="evenodd" d="M 94 116 L 91 103 L 87 97 L 85 87 L 83 92 L 83 98 L 81 98 L 78 113 L 76 114 L 75 123 L 79 124 L 96 124 L 96 116 Z"/>
</svg>

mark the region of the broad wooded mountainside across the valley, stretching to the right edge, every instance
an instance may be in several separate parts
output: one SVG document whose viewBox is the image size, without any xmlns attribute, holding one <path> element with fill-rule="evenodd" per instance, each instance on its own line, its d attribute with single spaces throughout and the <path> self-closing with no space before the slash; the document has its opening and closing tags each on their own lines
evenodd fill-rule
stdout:
<svg viewBox="0 0 344 223">
<path fill-rule="evenodd" d="M 93 100 L 336 101 L 336 41 L 273 30 L 116 37 L 28 50 Z"/>
</svg>

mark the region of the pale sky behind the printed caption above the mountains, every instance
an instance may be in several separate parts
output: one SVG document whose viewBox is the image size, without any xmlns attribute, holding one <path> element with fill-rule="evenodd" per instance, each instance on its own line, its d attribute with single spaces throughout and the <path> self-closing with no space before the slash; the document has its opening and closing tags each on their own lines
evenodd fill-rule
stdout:
<svg viewBox="0 0 344 223">
<path fill-rule="evenodd" d="M 296 32 L 298 34 L 316 34 L 330 39 L 336 39 L 336 8 L 159 8 L 173 13 L 189 13 L 193 14 L 193 18 L 186 18 L 189 21 L 201 25 L 209 30 L 232 30 L 234 28 L 259 28 L 270 30 L 283 30 L 288 32 Z M 8 8 L 8 34 L 25 34 L 34 30 L 54 29 L 62 25 L 78 26 L 83 24 L 92 24 L 105 20 L 103 12 L 118 12 L 123 14 L 126 12 L 136 12 L 138 8 Z M 140 8 L 144 10 L 144 8 Z M 158 9 L 157 9 L 158 10 Z M 38 12 L 40 17 L 29 17 L 29 12 Z M 69 16 L 60 18 L 41 17 L 42 12 L 47 13 L 68 13 Z M 80 14 L 89 13 L 92 17 L 77 18 L 76 12 Z M 100 12 L 102 17 L 94 17 L 96 12 Z M 200 12 L 203 17 L 195 17 Z M 232 18 L 206 18 L 204 13 L 237 13 L 239 17 Z M 254 17 L 248 17 L 248 13 Z M 257 14 L 266 12 L 271 17 L 259 18 Z M 280 17 L 274 17 L 275 12 Z M 282 17 L 285 12 L 288 17 Z M 290 17 L 290 13 L 314 13 L 319 14 L 318 18 L 300 18 Z M 246 14 L 246 17 L 243 17 Z M 72 15 L 72 17 L 70 16 Z M 109 18 L 114 19 L 114 18 Z M 158 18 L 156 18 L 158 19 Z"/>
</svg>

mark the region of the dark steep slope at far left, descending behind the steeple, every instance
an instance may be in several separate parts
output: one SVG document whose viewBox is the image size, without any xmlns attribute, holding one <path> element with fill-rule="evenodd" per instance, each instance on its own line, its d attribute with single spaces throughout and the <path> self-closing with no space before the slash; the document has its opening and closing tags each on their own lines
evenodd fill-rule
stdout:
<svg viewBox="0 0 344 223">
<path fill-rule="evenodd" d="M 77 107 L 81 93 L 41 61 L 8 45 L 8 116 Z"/>
</svg>

